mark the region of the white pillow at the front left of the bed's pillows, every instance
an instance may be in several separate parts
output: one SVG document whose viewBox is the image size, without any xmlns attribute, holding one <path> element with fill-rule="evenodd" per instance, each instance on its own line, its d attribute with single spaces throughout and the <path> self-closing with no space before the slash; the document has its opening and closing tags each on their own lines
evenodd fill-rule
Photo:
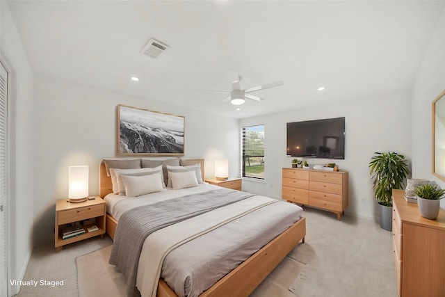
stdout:
<svg viewBox="0 0 445 297">
<path fill-rule="evenodd" d="M 162 173 L 158 171 L 152 175 L 120 175 L 125 186 L 127 196 L 137 197 L 154 192 L 160 192 L 162 186 Z"/>
</svg>

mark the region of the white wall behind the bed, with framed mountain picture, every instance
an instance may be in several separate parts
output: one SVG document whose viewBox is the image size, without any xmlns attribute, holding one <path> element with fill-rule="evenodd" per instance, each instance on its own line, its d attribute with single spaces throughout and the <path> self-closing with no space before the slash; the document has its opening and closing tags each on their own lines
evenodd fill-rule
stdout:
<svg viewBox="0 0 445 297">
<path fill-rule="evenodd" d="M 118 104 L 184 115 L 185 157 L 204 158 L 205 177 L 214 176 L 214 159 L 228 158 L 229 173 L 238 175 L 238 120 L 38 75 L 34 96 L 35 245 L 54 241 L 68 166 L 90 166 L 90 195 L 99 193 L 99 161 L 117 157 Z"/>
</svg>

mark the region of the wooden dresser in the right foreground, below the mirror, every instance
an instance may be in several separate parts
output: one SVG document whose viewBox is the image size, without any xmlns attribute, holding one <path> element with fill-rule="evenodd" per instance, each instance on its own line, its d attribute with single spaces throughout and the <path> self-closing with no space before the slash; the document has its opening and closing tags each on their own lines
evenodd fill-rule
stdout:
<svg viewBox="0 0 445 297">
<path fill-rule="evenodd" d="M 423 218 L 417 204 L 393 190 L 393 253 L 398 296 L 445 296 L 445 211 Z"/>
</svg>

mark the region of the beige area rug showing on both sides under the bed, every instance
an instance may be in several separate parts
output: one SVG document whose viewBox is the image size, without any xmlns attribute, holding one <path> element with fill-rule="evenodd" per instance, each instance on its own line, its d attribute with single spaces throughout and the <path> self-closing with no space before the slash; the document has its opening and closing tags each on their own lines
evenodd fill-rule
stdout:
<svg viewBox="0 0 445 297">
<path fill-rule="evenodd" d="M 125 297 L 123 275 L 108 264 L 112 246 L 76 258 L 79 297 Z M 314 250 L 308 243 L 299 243 L 268 277 L 259 284 L 252 297 L 308 296 L 308 280 L 312 280 Z"/>
</svg>

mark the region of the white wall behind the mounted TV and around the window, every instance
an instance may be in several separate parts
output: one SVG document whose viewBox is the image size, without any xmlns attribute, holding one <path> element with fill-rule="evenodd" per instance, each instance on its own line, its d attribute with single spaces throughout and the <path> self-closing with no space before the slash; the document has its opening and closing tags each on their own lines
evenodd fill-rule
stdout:
<svg viewBox="0 0 445 297">
<path fill-rule="evenodd" d="M 282 168 L 291 167 L 286 156 L 286 122 L 345 117 L 345 159 L 334 160 L 349 172 L 347 214 L 375 218 L 375 200 L 368 164 L 373 152 L 394 151 L 411 159 L 410 93 L 359 98 L 310 109 L 298 109 L 240 121 L 240 126 L 265 125 L 264 183 L 243 181 L 243 189 L 281 198 Z M 330 159 L 305 158 L 309 165 Z"/>
</svg>

